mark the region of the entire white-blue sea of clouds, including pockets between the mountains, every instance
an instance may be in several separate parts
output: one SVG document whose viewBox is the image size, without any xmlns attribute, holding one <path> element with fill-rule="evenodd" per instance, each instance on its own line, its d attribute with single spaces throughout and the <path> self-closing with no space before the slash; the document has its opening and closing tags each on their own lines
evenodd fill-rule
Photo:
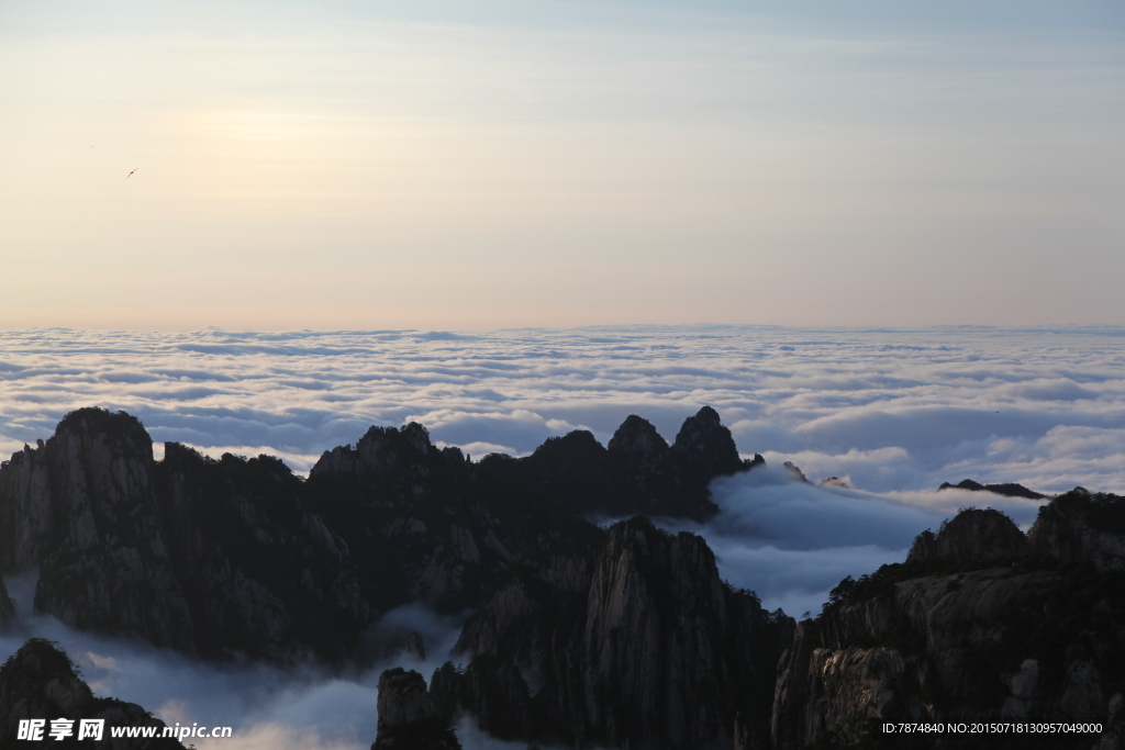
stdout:
<svg viewBox="0 0 1125 750">
<path fill-rule="evenodd" d="M 307 471 L 372 424 L 417 421 L 474 457 L 522 455 L 576 428 L 604 443 L 629 414 L 670 442 L 704 404 L 768 466 L 716 481 L 710 523 L 662 524 L 704 535 L 728 580 L 795 616 L 819 611 L 844 576 L 900 561 L 958 507 L 990 505 L 1024 527 L 1035 518 L 1037 503 L 935 491 L 943 481 L 1125 494 L 1125 328 L 0 332 L 4 453 L 82 406 L 125 409 L 156 441 L 272 453 Z M 817 484 L 829 476 L 847 486 Z M 27 598 L 26 581 L 9 582 Z M 220 669 L 22 609 L 25 632 L 0 649 L 30 632 L 54 638 L 96 692 L 165 721 L 234 725 L 240 748 L 358 750 L 374 739 L 385 665 Z M 458 623 L 407 608 L 386 626 L 404 623 L 426 634 L 426 663 L 406 666 L 429 677 Z M 461 739 L 507 747 L 467 725 Z"/>
</svg>

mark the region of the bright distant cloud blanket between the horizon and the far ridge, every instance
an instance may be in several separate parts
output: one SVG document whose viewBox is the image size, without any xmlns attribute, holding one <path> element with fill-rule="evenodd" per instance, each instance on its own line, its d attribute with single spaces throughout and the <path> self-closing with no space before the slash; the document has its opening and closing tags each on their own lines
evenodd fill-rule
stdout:
<svg viewBox="0 0 1125 750">
<path fill-rule="evenodd" d="M 739 449 L 873 491 L 972 477 L 1125 491 L 1125 329 L 756 326 L 449 332 L 0 333 L 0 451 L 71 409 L 307 470 L 371 424 L 470 453 L 629 414 L 669 440 L 714 406 Z"/>
</svg>

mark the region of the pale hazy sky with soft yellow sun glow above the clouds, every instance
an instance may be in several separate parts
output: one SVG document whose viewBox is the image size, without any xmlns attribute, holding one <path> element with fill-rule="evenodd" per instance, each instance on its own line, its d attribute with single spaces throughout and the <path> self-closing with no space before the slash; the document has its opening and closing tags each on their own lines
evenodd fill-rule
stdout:
<svg viewBox="0 0 1125 750">
<path fill-rule="evenodd" d="M 1109 0 L 0 0 L 0 328 L 1119 325 L 1122 133 Z"/>
</svg>

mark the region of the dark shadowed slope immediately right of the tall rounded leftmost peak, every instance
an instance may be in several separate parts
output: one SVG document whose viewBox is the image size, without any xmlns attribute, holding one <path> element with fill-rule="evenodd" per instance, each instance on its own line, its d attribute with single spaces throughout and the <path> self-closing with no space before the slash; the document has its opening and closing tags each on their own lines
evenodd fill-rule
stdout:
<svg viewBox="0 0 1125 750">
<path fill-rule="evenodd" d="M 348 652 L 372 608 L 348 544 L 281 461 L 166 443 L 155 477 L 192 648 L 282 661 Z"/>
</svg>

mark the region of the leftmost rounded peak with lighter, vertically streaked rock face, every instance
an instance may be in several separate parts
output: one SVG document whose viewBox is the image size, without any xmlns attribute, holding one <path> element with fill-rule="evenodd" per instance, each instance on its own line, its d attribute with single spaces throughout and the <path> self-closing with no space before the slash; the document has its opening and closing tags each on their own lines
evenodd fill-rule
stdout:
<svg viewBox="0 0 1125 750">
<path fill-rule="evenodd" d="M 153 475 L 138 421 L 68 415 L 0 469 L 0 560 L 4 571 L 38 568 L 36 608 L 73 627 L 192 651 Z"/>
</svg>

